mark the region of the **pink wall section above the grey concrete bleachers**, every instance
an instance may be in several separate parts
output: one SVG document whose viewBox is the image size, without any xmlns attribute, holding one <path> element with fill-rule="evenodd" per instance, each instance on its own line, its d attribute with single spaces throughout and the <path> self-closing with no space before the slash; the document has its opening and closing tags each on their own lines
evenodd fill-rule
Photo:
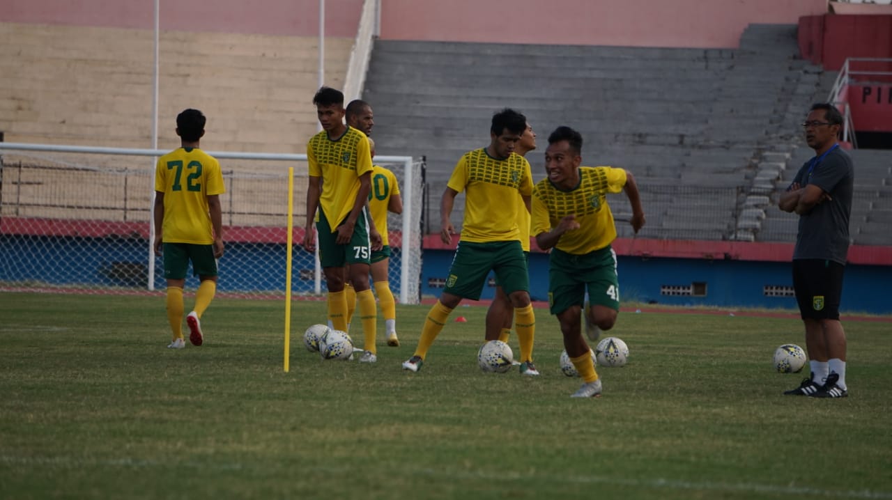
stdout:
<svg viewBox="0 0 892 500">
<path fill-rule="evenodd" d="M 749 23 L 796 24 L 827 0 L 383 0 L 381 37 L 735 48 Z"/>
</svg>

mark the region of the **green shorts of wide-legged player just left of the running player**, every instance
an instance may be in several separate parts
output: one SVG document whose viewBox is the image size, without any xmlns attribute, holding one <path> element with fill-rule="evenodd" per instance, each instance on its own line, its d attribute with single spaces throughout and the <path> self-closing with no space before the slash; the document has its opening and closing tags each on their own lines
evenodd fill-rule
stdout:
<svg viewBox="0 0 892 500">
<path fill-rule="evenodd" d="M 486 276 L 495 271 L 506 294 L 530 291 L 524 249 L 520 242 L 458 242 L 443 292 L 479 300 Z"/>
</svg>

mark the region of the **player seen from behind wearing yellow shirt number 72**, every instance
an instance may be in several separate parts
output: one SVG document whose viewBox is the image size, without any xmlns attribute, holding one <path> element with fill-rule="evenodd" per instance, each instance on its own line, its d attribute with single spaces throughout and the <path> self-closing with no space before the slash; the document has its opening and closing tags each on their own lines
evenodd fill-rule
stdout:
<svg viewBox="0 0 892 500">
<path fill-rule="evenodd" d="M 168 348 L 173 349 L 186 347 L 183 287 L 189 262 L 201 283 L 186 324 L 189 341 L 200 346 L 204 342 L 200 319 L 217 292 L 217 259 L 224 251 L 219 195 L 226 193 L 226 187 L 219 162 L 199 149 L 206 121 L 202 111 L 179 113 L 180 148 L 159 158 L 155 166 L 153 246 L 155 254 L 164 257 L 167 314 L 173 332 Z"/>
</svg>

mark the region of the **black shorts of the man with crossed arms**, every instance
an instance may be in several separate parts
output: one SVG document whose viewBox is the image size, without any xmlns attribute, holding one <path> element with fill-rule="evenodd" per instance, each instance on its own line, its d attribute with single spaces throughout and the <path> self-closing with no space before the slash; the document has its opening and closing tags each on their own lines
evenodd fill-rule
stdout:
<svg viewBox="0 0 892 500">
<path fill-rule="evenodd" d="M 839 319 L 846 266 L 818 258 L 793 261 L 793 290 L 802 319 Z"/>
</svg>

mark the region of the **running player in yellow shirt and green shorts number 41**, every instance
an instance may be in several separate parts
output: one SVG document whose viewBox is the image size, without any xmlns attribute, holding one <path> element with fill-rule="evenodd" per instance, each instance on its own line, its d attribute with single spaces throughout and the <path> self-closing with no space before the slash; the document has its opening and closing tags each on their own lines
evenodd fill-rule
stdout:
<svg viewBox="0 0 892 500">
<path fill-rule="evenodd" d="M 573 398 L 601 394 L 601 381 L 582 338 L 580 308 L 585 291 L 591 307 L 587 314 L 601 330 L 613 328 L 619 311 L 616 238 L 607 193 L 624 191 L 632 205 L 632 229 L 644 225 L 638 185 L 623 168 L 581 167 L 582 135 L 570 127 L 558 127 L 549 135 L 545 151 L 548 177 L 533 189 L 533 234 L 549 256 L 549 306 L 558 316 L 566 353 L 582 377 Z"/>
</svg>

